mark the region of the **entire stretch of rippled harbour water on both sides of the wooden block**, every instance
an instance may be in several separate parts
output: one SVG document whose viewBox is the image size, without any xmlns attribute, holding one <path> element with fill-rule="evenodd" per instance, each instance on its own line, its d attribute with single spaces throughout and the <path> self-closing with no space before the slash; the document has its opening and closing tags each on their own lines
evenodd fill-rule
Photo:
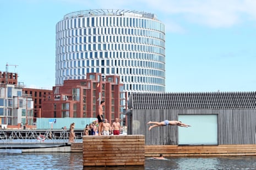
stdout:
<svg viewBox="0 0 256 170">
<path fill-rule="evenodd" d="M 82 153 L 1 153 L 0 169 L 256 169 L 256 156 L 146 158 L 145 167 L 83 168 Z"/>
</svg>

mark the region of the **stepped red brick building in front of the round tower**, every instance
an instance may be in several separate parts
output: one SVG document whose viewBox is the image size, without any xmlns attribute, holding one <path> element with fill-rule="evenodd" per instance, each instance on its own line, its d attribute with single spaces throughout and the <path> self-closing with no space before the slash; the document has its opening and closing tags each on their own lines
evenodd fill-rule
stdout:
<svg viewBox="0 0 256 170">
<path fill-rule="evenodd" d="M 88 73 L 83 80 L 64 80 L 62 86 L 54 86 L 51 100 L 42 102 L 42 117 L 86 118 L 96 117 L 100 101 L 105 103 L 105 118 L 120 118 L 125 96 L 119 76 Z"/>
</svg>

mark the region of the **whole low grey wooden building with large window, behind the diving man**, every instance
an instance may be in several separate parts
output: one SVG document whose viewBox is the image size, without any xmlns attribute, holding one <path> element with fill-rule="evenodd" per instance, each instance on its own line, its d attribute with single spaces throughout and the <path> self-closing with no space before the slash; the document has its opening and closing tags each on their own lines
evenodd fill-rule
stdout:
<svg viewBox="0 0 256 170">
<path fill-rule="evenodd" d="M 192 125 L 156 127 L 149 121 Z M 256 144 L 256 92 L 134 93 L 129 97 L 128 134 L 146 145 Z"/>
</svg>

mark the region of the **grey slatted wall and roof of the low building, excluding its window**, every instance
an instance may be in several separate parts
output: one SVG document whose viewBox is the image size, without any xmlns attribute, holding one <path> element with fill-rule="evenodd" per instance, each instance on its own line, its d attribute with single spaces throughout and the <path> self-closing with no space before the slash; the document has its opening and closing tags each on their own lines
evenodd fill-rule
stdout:
<svg viewBox="0 0 256 170">
<path fill-rule="evenodd" d="M 177 126 L 149 131 L 146 123 L 182 114 L 217 114 L 219 145 L 256 144 L 256 92 L 132 94 L 129 100 L 128 134 L 145 135 L 146 145 L 178 145 Z"/>
</svg>

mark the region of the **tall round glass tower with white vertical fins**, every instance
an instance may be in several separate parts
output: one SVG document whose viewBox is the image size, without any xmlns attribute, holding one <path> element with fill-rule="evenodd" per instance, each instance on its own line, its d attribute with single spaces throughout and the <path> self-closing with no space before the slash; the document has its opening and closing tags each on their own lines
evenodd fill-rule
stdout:
<svg viewBox="0 0 256 170">
<path fill-rule="evenodd" d="M 65 15 L 56 25 L 56 85 L 86 73 L 119 75 L 127 92 L 165 92 L 165 25 L 134 10 Z"/>
</svg>

